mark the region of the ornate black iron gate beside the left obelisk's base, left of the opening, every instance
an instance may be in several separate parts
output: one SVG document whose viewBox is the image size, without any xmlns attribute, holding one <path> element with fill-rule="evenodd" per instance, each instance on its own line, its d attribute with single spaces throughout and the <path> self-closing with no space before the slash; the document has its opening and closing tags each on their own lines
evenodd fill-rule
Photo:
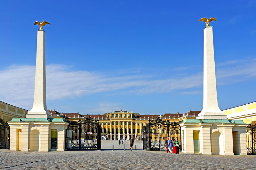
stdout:
<svg viewBox="0 0 256 170">
<path fill-rule="evenodd" d="M 68 150 L 100 150 L 101 126 L 91 116 L 79 121 L 68 121 L 66 148 Z"/>
</svg>

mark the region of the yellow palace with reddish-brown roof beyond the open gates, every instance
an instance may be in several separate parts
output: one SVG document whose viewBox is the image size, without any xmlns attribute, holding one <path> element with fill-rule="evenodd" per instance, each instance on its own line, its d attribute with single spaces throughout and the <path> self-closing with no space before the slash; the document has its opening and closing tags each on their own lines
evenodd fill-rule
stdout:
<svg viewBox="0 0 256 170">
<path fill-rule="evenodd" d="M 122 109 L 100 115 L 81 115 L 79 113 L 63 114 L 52 110 L 49 110 L 49 112 L 51 112 L 54 117 L 61 116 L 70 121 L 78 121 L 79 119 L 84 119 L 89 116 L 91 116 L 92 119 L 99 120 L 102 140 L 130 140 L 131 137 L 136 140 L 142 140 L 142 128 L 148 124 L 149 119 L 152 120 L 160 117 L 170 122 L 179 122 L 181 119 L 188 117 L 196 119 L 196 116 L 200 113 L 199 111 L 190 111 L 184 114 L 166 113 L 164 115 L 140 115 L 140 113 L 124 111 Z M 157 137 L 153 137 L 152 140 L 158 139 Z"/>
</svg>

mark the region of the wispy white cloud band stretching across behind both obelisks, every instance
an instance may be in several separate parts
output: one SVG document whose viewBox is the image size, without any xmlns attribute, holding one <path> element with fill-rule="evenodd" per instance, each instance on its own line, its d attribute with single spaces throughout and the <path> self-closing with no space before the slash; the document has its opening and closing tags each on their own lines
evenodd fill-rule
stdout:
<svg viewBox="0 0 256 170">
<path fill-rule="evenodd" d="M 232 84 L 237 81 L 245 81 L 256 77 L 256 60 L 228 61 L 219 65 L 216 69 L 218 85 Z M 229 64 L 228 64 L 229 63 Z M 193 88 L 203 86 L 203 72 L 192 75 L 172 74 L 164 72 L 159 75 L 150 73 L 142 74 L 140 71 L 126 72 L 120 75 L 104 74 L 84 70 L 71 70 L 69 66 L 51 64 L 46 66 L 46 92 L 47 100 L 59 100 L 76 98 L 84 94 L 98 92 L 122 93 L 163 93 L 179 90 L 180 94 L 196 94 Z M 166 75 L 172 75 L 168 77 Z M 189 73 L 186 73 L 189 74 Z M 118 75 L 118 76 L 116 76 Z M 161 78 L 160 78 L 161 77 Z M 12 105 L 30 109 L 34 96 L 35 66 L 12 65 L 0 71 L 0 100 Z M 192 92 L 182 92 L 184 89 L 192 89 Z M 108 106 L 109 105 L 109 106 Z M 100 103 L 106 111 L 119 108 L 117 103 Z"/>
</svg>

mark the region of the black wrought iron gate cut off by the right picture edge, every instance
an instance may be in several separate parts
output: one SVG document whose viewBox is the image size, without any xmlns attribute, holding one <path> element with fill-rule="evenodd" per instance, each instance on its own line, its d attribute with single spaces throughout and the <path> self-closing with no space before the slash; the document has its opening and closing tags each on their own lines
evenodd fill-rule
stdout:
<svg viewBox="0 0 256 170">
<path fill-rule="evenodd" d="M 247 154 L 256 154 L 256 124 L 246 127 Z"/>
</svg>

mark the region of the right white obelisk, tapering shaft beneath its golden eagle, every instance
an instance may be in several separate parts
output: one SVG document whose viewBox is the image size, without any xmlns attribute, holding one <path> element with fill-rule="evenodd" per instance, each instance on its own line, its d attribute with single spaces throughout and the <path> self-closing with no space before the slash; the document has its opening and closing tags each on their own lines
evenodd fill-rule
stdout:
<svg viewBox="0 0 256 170">
<path fill-rule="evenodd" d="M 204 28 L 204 101 L 197 119 L 227 119 L 217 100 L 212 26 Z"/>
</svg>

